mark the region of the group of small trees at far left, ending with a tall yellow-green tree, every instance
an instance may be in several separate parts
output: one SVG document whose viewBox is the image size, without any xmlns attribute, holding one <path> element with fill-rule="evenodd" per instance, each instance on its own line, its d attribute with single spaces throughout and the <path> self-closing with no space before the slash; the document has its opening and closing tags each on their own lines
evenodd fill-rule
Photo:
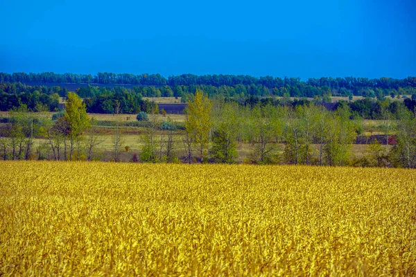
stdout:
<svg viewBox="0 0 416 277">
<path fill-rule="evenodd" d="M 51 150 L 55 160 L 78 159 L 82 135 L 90 127 L 85 103 L 75 94 L 68 93 L 64 113 L 52 119 L 44 111 L 28 113 L 26 105 L 9 111 L 9 122 L 0 129 L 0 147 L 3 159 L 44 159 Z M 35 151 L 35 138 L 46 139 Z M 10 150 L 10 152 L 8 152 Z"/>
</svg>

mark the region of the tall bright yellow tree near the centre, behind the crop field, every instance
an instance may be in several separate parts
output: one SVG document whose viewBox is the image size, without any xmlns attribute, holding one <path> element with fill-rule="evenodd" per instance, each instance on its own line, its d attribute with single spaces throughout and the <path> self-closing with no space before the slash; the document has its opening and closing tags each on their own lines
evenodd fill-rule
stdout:
<svg viewBox="0 0 416 277">
<path fill-rule="evenodd" d="M 205 161 L 205 151 L 209 143 L 211 107 L 211 100 L 200 90 L 196 91 L 193 101 L 188 103 L 189 115 L 185 122 L 185 127 L 191 140 L 198 148 L 201 162 Z"/>
</svg>

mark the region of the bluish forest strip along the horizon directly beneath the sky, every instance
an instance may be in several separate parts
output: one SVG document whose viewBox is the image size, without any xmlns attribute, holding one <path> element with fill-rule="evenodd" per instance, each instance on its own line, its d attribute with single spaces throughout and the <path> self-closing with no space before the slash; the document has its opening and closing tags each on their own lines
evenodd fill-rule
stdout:
<svg viewBox="0 0 416 277">
<path fill-rule="evenodd" d="M 377 95 L 404 95 L 416 93 L 416 77 L 404 79 L 396 78 L 309 78 L 306 81 L 300 78 L 279 78 L 272 76 L 253 77 L 250 75 L 171 75 L 164 78 L 160 74 L 128 74 L 128 73 L 98 73 L 73 74 L 73 73 L 0 73 L 0 82 L 22 83 L 76 83 L 76 84 L 130 84 L 156 87 L 175 87 L 205 85 L 213 87 L 263 86 L 275 95 L 275 89 L 288 89 L 292 97 L 313 97 L 319 95 L 319 91 L 331 91 L 333 96 L 377 96 Z M 318 91 L 317 91 L 318 89 Z M 281 93 L 283 94 L 283 93 Z"/>
</svg>

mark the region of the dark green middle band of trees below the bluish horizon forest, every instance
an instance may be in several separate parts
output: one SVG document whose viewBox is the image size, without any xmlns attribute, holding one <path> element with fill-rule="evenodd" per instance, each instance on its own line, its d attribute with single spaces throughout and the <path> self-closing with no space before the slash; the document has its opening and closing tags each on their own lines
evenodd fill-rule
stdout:
<svg viewBox="0 0 416 277">
<path fill-rule="evenodd" d="M 262 85 L 236 87 L 213 87 L 213 86 L 175 86 L 175 87 L 133 87 L 126 89 L 124 87 L 80 87 L 76 90 L 76 94 L 80 98 L 84 98 L 87 112 L 99 114 L 112 114 L 116 108 L 116 103 L 121 105 L 121 113 L 137 114 L 139 111 L 150 113 L 155 109 L 155 104 L 142 97 L 158 97 L 158 96 L 180 96 L 182 102 L 188 102 L 193 99 L 196 91 L 205 91 L 211 99 L 220 99 L 226 101 L 236 101 L 240 105 L 254 106 L 261 105 L 307 105 L 311 102 L 314 104 L 324 104 L 331 102 L 330 94 L 323 96 L 315 96 L 313 100 L 297 99 L 291 100 L 290 94 L 285 90 L 283 94 L 279 93 L 280 98 L 275 98 Z M 60 89 L 60 87 L 32 87 L 21 83 L 3 83 L 0 84 L 0 111 L 8 111 L 18 108 L 20 105 L 26 105 L 28 111 L 57 111 L 59 105 L 59 97 L 66 97 L 68 91 Z M 328 93 L 330 93 L 328 91 Z M 340 105 L 325 105 L 328 109 L 336 109 Z M 362 100 L 349 101 L 347 103 L 353 114 L 358 114 L 365 119 L 379 119 L 383 115 L 381 113 L 384 106 L 387 106 L 390 112 L 396 113 L 399 102 L 391 101 L 384 96 L 377 98 L 364 98 Z M 404 99 L 404 105 L 413 111 L 416 106 L 416 94 L 411 98 Z"/>
</svg>

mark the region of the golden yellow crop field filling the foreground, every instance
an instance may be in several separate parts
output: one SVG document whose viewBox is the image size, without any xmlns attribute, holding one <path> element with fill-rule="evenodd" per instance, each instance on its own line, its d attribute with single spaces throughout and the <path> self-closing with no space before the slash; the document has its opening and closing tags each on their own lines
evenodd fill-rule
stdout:
<svg viewBox="0 0 416 277">
<path fill-rule="evenodd" d="M 416 171 L 0 162 L 0 275 L 416 275 Z"/>
</svg>

